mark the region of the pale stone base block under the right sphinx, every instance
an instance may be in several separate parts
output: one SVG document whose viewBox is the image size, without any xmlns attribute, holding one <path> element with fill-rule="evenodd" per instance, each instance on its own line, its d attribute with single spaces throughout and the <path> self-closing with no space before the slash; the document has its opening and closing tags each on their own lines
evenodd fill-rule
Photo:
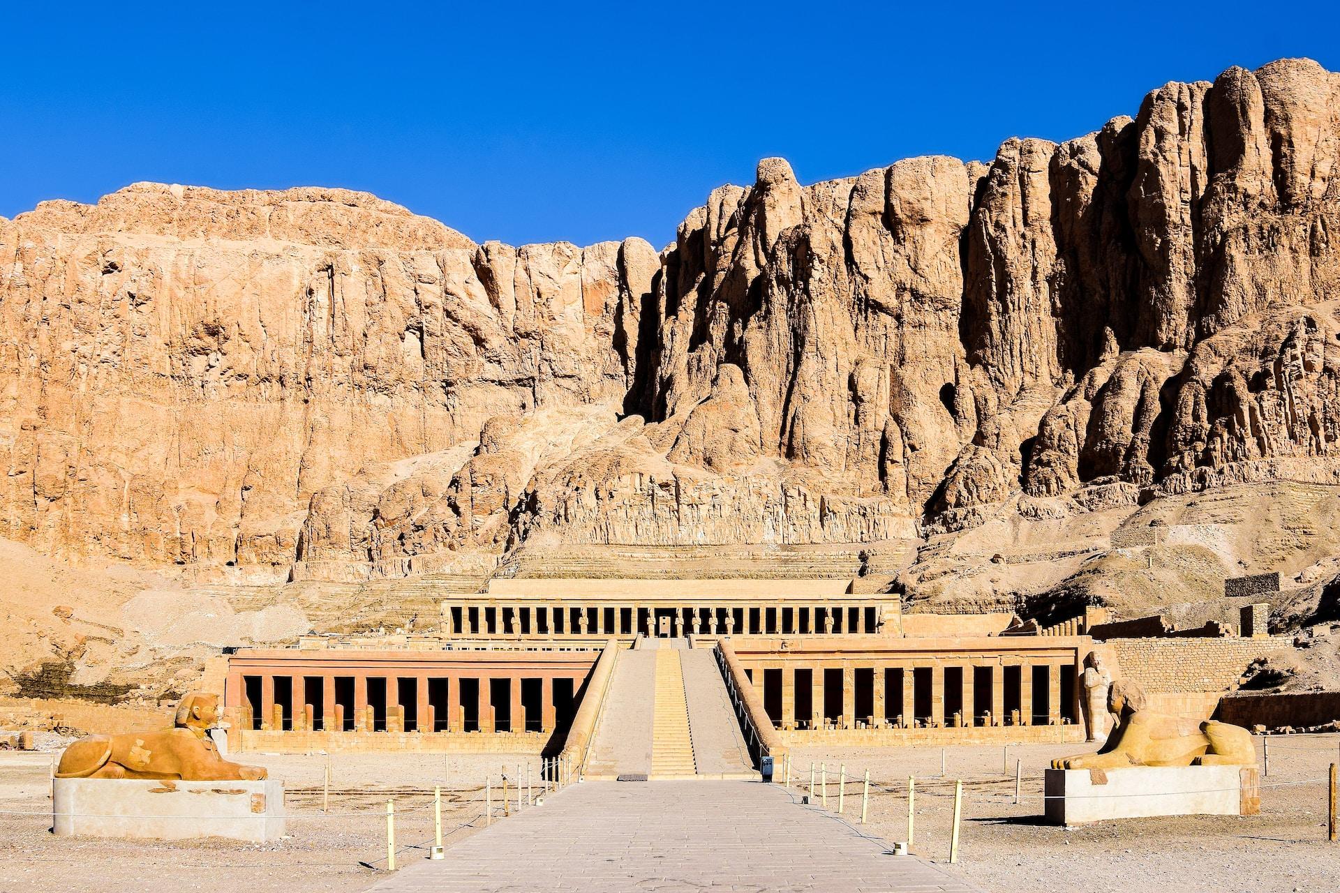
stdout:
<svg viewBox="0 0 1340 893">
<path fill-rule="evenodd" d="M 1047 770 L 1047 821 L 1083 825 L 1152 815 L 1256 815 L 1256 766 L 1132 766 Z"/>
</svg>

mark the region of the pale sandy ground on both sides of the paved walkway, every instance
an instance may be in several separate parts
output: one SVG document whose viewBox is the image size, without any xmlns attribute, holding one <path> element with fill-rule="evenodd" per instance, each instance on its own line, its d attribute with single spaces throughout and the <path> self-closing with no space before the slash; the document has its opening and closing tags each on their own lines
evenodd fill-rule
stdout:
<svg viewBox="0 0 1340 893">
<path fill-rule="evenodd" d="M 1272 739 L 1270 775 L 1256 818 L 1186 817 L 1104 822 L 1080 829 L 1041 823 L 1041 767 L 1073 744 L 1009 748 L 848 748 L 795 751 L 792 789 L 804 793 L 809 762 L 829 778 L 846 763 L 859 779 L 871 771 L 866 829 L 886 841 L 907 837 L 907 775 L 917 777 L 915 850 L 985 890 L 1242 890 L 1273 893 L 1340 889 L 1340 843 L 1325 841 L 1327 768 L 1340 755 L 1340 735 Z M 1021 759 L 1024 801 L 1013 802 L 1014 760 Z M 423 858 L 431 842 L 431 786 L 446 782 L 446 842 L 477 830 L 481 785 L 516 774 L 509 755 L 340 755 L 334 763 L 330 814 L 322 813 L 326 758 L 248 755 L 285 779 L 289 837 L 272 845 L 226 841 L 147 842 L 55 838 L 50 833 L 50 755 L 0 754 L 0 893 L 67 890 L 182 890 L 214 888 L 226 878 L 249 892 L 362 890 L 385 877 L 386 801 L 397 807 L 399 860 Z M 537 762 L 531 758 L 532 778 Z M 523 770 L 524 773 L 524 770 Z M 947 865 L 953 781 L 965 789 L 959 862 Z M 511 782 L 509 782 L 511 783 Z M 414 789 L 414 790 L 411 790 Z M 829 809 L 838 786 L 829 782 Z M 515 791 L 513 791 L 515 797 Z M 515 799 L 512 801 L 515 809 Z M 35 813 L 35 814 L 13 814 Z M 850 782 L 846 814 L 860 815 L 860 783 Z M 474 821 L 472 821 L 474 819 Z M 90 878 L 96 878 L 92 884 Z"/>
</svg>

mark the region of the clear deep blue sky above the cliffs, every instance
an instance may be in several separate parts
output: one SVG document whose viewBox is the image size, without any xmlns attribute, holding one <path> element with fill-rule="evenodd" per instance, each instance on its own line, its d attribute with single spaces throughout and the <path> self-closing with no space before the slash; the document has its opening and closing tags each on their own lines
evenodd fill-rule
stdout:
<svg viewBox="0 0 1340 893">
<path fill-rule="evenodd" d="M 478 241 L 659 246 L 766 155 L 803 182 L 989 159 L 1168 80 L 1340 70 L 1335 5 L 8 4 L 0 216 L 145 179 L 328 185 Z"/>
</svg>

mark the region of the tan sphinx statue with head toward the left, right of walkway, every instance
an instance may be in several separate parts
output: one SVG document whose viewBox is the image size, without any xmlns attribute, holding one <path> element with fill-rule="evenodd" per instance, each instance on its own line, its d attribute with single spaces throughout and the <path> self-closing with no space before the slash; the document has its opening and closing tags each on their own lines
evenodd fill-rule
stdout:
<svg viewBox="0 0 1340 893">
<path fill-rule="evenodd" d="M 1227 723 L 1185 720 L 1148 708 L 1139 685 L 1114 683 L 1107 708 L 1116 728 L 1096 754 L 1052 760 L 1052 768 L 1127 768 L 1130 766 L 1256 766 L 1252 734 Z"/>
</svg>

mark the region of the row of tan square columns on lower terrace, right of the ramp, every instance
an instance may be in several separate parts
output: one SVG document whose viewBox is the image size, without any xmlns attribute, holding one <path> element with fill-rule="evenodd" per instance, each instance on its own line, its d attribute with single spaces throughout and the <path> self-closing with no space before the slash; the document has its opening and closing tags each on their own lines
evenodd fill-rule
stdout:
<svg viewBox="0 0 1340 893">
<path fill-rule="evenodd" d="M 1005 667 L 1018 667 L 1018 707 L 1005 712 Z M 978 712 L 976 673 L 977 667 L 988 667 L 992 671 L 990 711 Z M 1033 667 L 1047 668 L 1047 714 L 1033 714 Z M 821 728 L 827 724 L 824 716 L 825 669 L 842 671 L 842 715 L 833 723 L 838 728 L 860 727 L 904 727 L 910 728 L 923 719 L 929 727 L 974 727 L 974 726 L 1059 726 L 1063 722 L 1075 722 L 1079 716 L 1079 702 L 1075 685 L 1072 685 L 1071 710 L 1063 710 L 1061 704 L 1061 673 L 1075 664 L 1071 661 L 1045 661 L 1021 664 L 972 664 L 972 663 L 937 663 L 934 665 L 898 663 L 887 665 L 858 665 L 847 661 L 815 661 L 812 664 L 797 665 L 793 661 L 750 661 L 749 668 L 753 675 L 753 685 L 762 695 L 764 704 L 775 703 L 772 692 L 765 688 L 768 677 L 766 669 L 780 669 L 780 699 L 781 699 L 781 728 Z M 856 669 L 872 671 L 871 714 L 868 716 L 856 715 Z M 922 718 L 915 715 L 917 703 L 917 673 L 915 671 L 930 671 L 930 715 Z M 958 668 L 961 671 L 962 687 L 959 695 L 961 711 L 945 715 L 945 679 L 946 669 Z M 811 715 L 796 715 L 796 669 L 811 671 Z M 902 677 L 902 714 L 890 716 L 886 692 L 886 671 L 900 669 Z"/>
</svg>

